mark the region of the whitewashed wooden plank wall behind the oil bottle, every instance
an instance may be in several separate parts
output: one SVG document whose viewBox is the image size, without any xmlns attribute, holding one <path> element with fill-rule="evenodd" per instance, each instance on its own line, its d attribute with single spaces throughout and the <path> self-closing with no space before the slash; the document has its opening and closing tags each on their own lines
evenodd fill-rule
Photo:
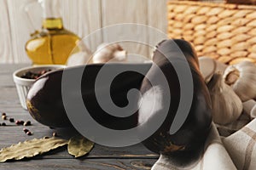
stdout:
<svg viewBox="0 0 256 170">
<path fill-rule="evenodd" d="M 24 5 L 36 0 L 0 0 L 0 63 L 27 63 L 25 43 L 30 38 L 32 27 L 27 24 Z M 79 37 L 85 37 L 104 26 L 120 23 L 138 23 L 153 26 L 166 32 L 167 0 L 61 0 L 61 13 L 64 26 Z M 40 28 L 40 13 L 34 8 L 31 13 L 38 18 L 34 25 Z M 122 30 L 117 30 L 117 36 Z M 154 35 L 140 30 L 131 30 L 148 41 Z M 102 42 L 108 42 L 110 36 L 100 31 L 90 38 L 90 47 L 96 48 Z M 123 43 L 129 53 L 149 55 L 149 49 L 143 44 Z"/>
</svg>

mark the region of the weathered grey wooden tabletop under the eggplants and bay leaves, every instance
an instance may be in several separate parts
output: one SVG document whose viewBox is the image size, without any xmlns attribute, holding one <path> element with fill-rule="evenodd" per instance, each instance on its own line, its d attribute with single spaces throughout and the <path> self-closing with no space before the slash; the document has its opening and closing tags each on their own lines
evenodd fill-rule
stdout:
<svg viewBox="0 0 256 170">
<path fill-rule="evenodd" d="M 25 66 L 27 65 L 0 65 L 0 111 L 6 112 L 7 116 L 14 117 L 15 120 L 31 121 L 32 126 L 28 128 L 33 135 L 27 136 L 23 132 L 23 126 L 16 126 L 15 123 L 1 119 L 0 122 L 6 122 L 7 126 L 0 127 L 0 148 L 27 139 L 51 136 L 54 132 L 65 138 L 70 135 L 70 132 L 65 130 L 50 129 L 36 122 L 27 111 L 22 109 L 12 73 Z M 0 163 L 0 169 L 150 169 L 158 157 L 142 144 L 125 148 L 109 148 L 96 144 L 88 156 L 80 159 L 70 156 L 67 153 L 67 147 L 63 147 L 31 159 Z"/>
</svg>

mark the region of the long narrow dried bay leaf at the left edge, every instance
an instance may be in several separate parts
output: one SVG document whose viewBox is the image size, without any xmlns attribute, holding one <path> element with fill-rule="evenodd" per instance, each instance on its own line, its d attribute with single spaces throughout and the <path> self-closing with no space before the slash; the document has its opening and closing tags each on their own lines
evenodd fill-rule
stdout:
<svg viewBox="0 0 256 170">
<path fill-rule="evenodd" d="M 58 139 L 55 137 L 26 140 L 0 150 L 0 162 L 21 160 L 25 157 L 37 156 L 66 145 L 67 142 L 66 139 Z"/>
</svg>

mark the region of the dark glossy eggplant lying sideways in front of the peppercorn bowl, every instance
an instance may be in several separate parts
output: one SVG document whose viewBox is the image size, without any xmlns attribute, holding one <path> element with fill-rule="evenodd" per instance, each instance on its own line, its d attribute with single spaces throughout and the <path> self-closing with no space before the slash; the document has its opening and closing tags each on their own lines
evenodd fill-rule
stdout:
<svg viewBox="0 0 256 170">
<path fill-rule="evenodd" d="M 118 70 L 119 68 L 127 68 L 128 71 L 120 73 L 113 79 L 110 89 L 106 88 L 106 84 L 101 84 L 101 95 L 109 94 L 113 99 L 113 103 L 119 107 L 128 105 L 127 92 L 131 88 L 140 89 L 144 75 L 151 67 L 151 63 L 147 64 L 106 64 L 104 68 L 110 70 Z M 95 82 L 99 71 L 103 64 L 86 65 L 84 74 L 81 79 L 81 94 L 87 111 L 90 112 L 96 122 L 105 127 L 112 129 L 129 129 L 137 126 L 137 113 L 127 117 L 112 116 L 102 110 L 98 104 L 95 93 Z M 139 74 L 134 68 L 139 67 L 143 74 Z M 65 71 L 74 71 L 84 68 L 84 65 L 71 67 Z M 30 88 L 26 105 L 29 113 L 38 122 L 49 127 L 72 127 L 69 121 L 61 96 L 61 80 L 64 70 L 50 71 L 38 80 Z M 107 74 L 108 76 L 108 74 Z M 75 82 L 74 82 L 75 83 Z M 67 95 L 77 95 L 74 89 L 68 89 Z M 134 99 L 132 105 L 137 107 L 137 99 Z M 130 103 L 129 103 L 130 104 Z M 75 111 L 75 108 L 74 108 Z M 121 113 L 120 113 L 121 114 Z"/>
</svg>

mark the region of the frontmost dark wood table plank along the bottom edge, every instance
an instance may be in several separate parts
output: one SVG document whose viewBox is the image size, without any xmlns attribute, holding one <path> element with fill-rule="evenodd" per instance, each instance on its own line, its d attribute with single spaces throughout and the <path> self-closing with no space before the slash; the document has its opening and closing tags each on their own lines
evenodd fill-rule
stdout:
<svg viewBox="0 0 256 170">
<path fill-rule="evenodd" d="M 1 164 L 4 170 L 58 170 L 58 169 L 87 169 L 87 170 L 137 170 L 150 169 L 156 160 L 154 159 L 49 159 L 49 160 L 29 160 L 29 161 L 15 161 Z"/>
</svg>

